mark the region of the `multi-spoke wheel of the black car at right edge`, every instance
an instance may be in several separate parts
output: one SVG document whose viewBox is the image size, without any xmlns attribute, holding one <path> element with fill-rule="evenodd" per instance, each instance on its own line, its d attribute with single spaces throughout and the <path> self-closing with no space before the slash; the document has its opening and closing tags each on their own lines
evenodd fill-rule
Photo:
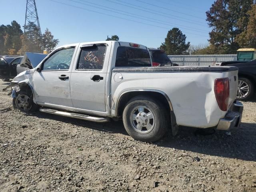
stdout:
<svg viewBox="0 0 256 192">
<path fill-rule="evenodd" d="M 238 90 L 236 100 L 245 101 L 254 95 L 254 85 L 248 78 L 238 78 Z"/>
</svg>

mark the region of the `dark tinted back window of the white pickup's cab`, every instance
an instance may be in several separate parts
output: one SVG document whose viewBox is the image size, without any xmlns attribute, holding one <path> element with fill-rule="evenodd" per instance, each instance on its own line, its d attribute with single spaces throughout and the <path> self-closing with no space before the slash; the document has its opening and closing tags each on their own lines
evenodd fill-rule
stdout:
<svg viewBox="0 0 256 192">
<path fill-rule="evenodd" d="M 148 50 L 133 47 L 118 47 L 116 67 L 151 67 Z"/>
</svg>

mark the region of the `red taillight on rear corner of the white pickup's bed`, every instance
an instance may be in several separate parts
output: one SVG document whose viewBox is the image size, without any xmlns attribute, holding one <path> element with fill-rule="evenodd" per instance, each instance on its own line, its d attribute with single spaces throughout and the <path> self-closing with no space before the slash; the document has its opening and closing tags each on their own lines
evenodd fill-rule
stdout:
<svg viewBox="0 0 256 192">
<path fill-rule="evenodd" d="M 229 80 L 228 78 L 216 79 L 214 82 L 214 92 L 218 105 L 222 111 L 228 110 Z"/>
</svg>

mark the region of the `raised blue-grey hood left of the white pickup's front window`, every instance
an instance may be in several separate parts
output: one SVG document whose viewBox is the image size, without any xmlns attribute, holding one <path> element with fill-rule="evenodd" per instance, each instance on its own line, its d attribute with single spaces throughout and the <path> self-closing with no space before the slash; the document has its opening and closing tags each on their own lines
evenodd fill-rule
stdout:
<svg viewBox="0 0 256 192">
<path fill-rule="evenodd" d="M 26 52 L 20 62 L 20 66 L 30 69 L 35 68 L 44 58 L 46 58 L 47 55 L 48 54 Z"/>
</svg>

